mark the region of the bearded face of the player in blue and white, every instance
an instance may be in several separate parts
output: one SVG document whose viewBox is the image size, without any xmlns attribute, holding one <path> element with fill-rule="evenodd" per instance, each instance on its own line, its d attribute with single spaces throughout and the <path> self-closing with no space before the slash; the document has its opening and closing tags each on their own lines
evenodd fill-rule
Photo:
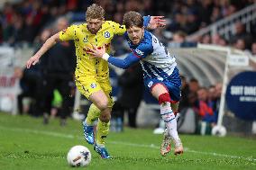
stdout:
<svg viewBox="0 0 256 170">
<path fill-rule="evenodd" d="M 144 35 L 144 28 L 132 26 L 127 29 L 128 37 L 132 40 L 133 44 L 137 45 L 141 42 Z"/>
</svg>

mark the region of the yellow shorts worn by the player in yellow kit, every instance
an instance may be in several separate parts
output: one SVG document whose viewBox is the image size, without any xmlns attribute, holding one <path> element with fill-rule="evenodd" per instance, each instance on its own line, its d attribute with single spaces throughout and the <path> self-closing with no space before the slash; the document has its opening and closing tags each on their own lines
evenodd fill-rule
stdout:
<svg viewBox="0 0 256 170">
<path fill-rule="evenodd" d="M 81 94 L 89 100 L 91 94 L 102 90 L 108 98 L 108 107 L 113 107 L 112 86 L 109 78 L 98 79 L 96 76 L 79 76 L 76 78 L 76 85 Z"/>
</svg>

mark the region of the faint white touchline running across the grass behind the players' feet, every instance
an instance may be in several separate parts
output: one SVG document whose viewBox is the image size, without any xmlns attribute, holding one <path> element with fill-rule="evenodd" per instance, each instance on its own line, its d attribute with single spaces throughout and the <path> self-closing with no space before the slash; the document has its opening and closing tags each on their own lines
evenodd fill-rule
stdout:
<svg viewBox="0 0 256 170">
<path fill-rule="evenodd" d="M 74 135 L 70 135 L 70 134 L 51 132 L 51 131 L 45 131 L 45 130 L 29 130 L 29 129 L 7 128 L 7 127 L 3 127 L 3 126 L 0 126 L 0 129 L 2 129 L 2 130 L 11 130 L 11 131 L 21 131 L 21 132 L 34 133 L 34 134 L 42 134 L 42 135 L 47 135 L 47 136 L 51 136 L 51 137 L 58 137 L 58 138 L 65 138 L 65 139 L 75 139 L 75 138 L 83 139 L 83 138 L 75 137 Z M 145 145 L 145 144 L 122 142 L 122 141 L 110 141 L 110 140 L 108 140 L 108 142 L 112 143 L 112 144 L 124 145 L 124 146 L 129 146 L 129 147 L 157 148 L 157 149 L 159 149 L 159 147 L 155 146 L 154 144 Z M 228 158 L 238 158 L 238 159 L 246 159 L 246 160 L 249 160 L 249 161 L 256 161 L 256 159 L 253 158 L 253 157 L 232 156 L 232 155 L 226 155 L 226 154 L 218 154 L 218 153 L 215 153 L 215 152 L 203 152 L 203 151 L 192 150 L 190 148 L 185 148 L 185 151 L 186 152 L 191 152 L 191 153 L 196 153 L 196 154 L 201 154 L 201 155 L 211 155 L 211 156 L 215 156 L 215 157 L 228 157 Z"/>
</svg>

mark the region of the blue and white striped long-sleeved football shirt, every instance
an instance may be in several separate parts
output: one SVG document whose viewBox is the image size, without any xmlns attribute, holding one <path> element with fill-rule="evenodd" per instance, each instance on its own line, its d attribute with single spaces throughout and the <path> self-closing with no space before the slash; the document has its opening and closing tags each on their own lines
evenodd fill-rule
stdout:
<svg viewBox="0 0 256 170">
<path fill-rule="evenodd" d="M 168 49 L 150 31 L 144 31 L 142 41 L 134 45 L 124 33 L 132 52 L 124 59 L 110 57 L 108 62 L 115 67 L 127 68 L 136 62 L 140 62 L 143 76 L 164 80 L 171 75 L 177 66 L 175 57 L 169 54 Z"/>
</svg>

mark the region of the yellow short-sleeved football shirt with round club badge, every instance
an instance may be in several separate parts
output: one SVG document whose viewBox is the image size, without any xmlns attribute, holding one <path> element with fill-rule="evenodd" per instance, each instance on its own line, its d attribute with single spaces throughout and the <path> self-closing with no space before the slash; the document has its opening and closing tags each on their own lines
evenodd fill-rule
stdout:
<svg viewBox="0 0 256 170">
<path fill-rule="evenodd" d="M 124 31 L 126 31 L 125 26 L 111 21 L 105 21 L 96 34 L 87 30 L 87 23 L 71 25 L 66 30 L 60 31 L 60 40 L 74 40 L 75 42 L 77 55 L 76 77 L 108 77 L 107 61 L 102 58 L 91 58 L 91 55 L 87 53 L 87 48 L 91 48 L 91 44 L 97 48 L 102 48 L 105 45 L 106 52 L 109 53 L 110 43 L 114 35 L 122 35 Z"/>
</svg>

